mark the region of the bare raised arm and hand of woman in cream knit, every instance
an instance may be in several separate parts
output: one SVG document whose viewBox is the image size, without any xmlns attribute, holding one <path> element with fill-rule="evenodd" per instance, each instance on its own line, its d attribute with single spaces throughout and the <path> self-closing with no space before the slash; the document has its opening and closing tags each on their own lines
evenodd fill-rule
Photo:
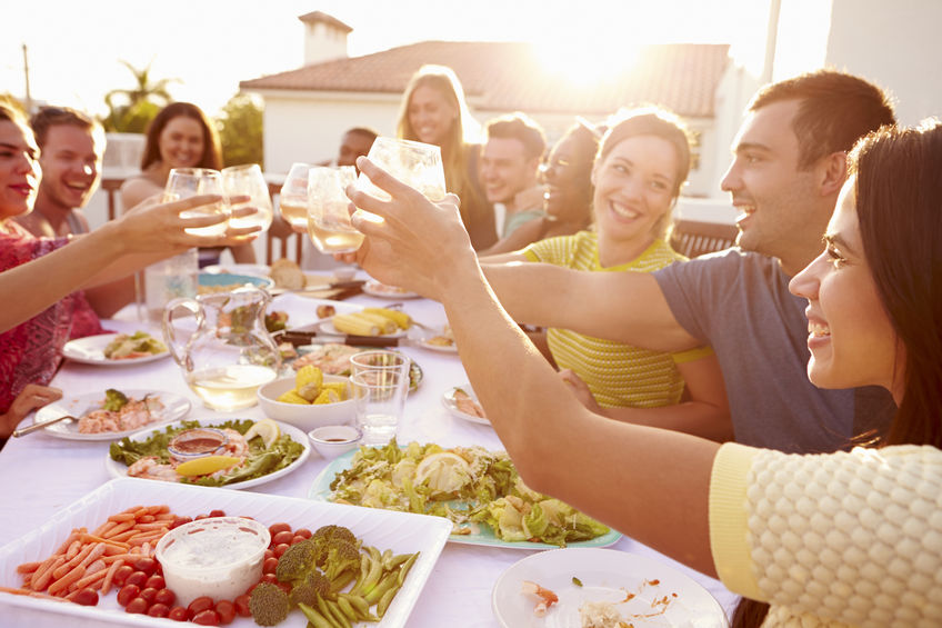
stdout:
<svg viewBox="0 0 942 628">
<path fill-rule="evenodd" d="M 349 190 L 358 207 L 383 218 L 354 215 L 367 233 L 360 263 L 381 281 L 444 305 L 474 391 L 523 479 L 715 574 L 708 491 L 719 445 L 612 421 L 582 407 L 501 308 L 461 227 L 455 199 L 434 206 L 369 160 L 358 165 L 393 197 L 381 201 Z M 442 258 L 442 250 L 451 253 Z"/>
</svg>

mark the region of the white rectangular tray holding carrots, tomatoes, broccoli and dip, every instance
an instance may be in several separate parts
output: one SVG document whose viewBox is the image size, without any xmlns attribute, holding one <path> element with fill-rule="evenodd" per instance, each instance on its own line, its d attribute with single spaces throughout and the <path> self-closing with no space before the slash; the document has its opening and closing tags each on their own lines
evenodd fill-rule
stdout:
<svg viewBox="0 0 942 628">
<path fill-rule="evenodd" d="M 251 491 L 217 490 L 214 488 L 186 486 L 170 482 L 149 482 L 132 478 L 111 480 L 78 501 L 60 508 L 42 527 L 0 548 L 0 586 L 19 587 L 22 578 L 17 566 L 22 562 L 43 560 L 58 548 L 73 528 L 94 529 L 110 516 L 137 505 L 170 506 L 172 512 L 193 517 L 213 509 L 230 515 L 254 517 L 265 525 L 278 521 L 294 528 L 312 530 L 335 524 L 350 528 L 363 539 L 364 545 L 391 549 L 393 554 L 420 551 L 402 588 L 393 598 L 378 628 L 405 626 L 419 594 L 448 539 L 451 524 L 437 517 L 423 517 L 408 512 L 357 508 L 339 504 L 311 501 L 293 497 L 278 497 Z M 98 606 L 79 606 L 26 596 L 0 594 L 0 605 L 18 606 L 36 611 L 57 612 L 84 618 L 89 625 L 122 624 L 126 626 L 174 626 L 167 620 L 141 615 L 128 615 L 118 606 L 117 592 L 104 596 Z M 7 611 L 0 611 L 0 617 Z M 0 620 L 0 624 L 4 624 Z M 68 617 L 62 625 L 68 626 Z M 283 628 L 304 628 L 304 616 L 292 610 L 288 619 L 279 624 Z M 180 626 L 192 626 L 190 624 Z M 237 617 L 232 628 L 257 628 L 251 618 Z"/>
</svg>

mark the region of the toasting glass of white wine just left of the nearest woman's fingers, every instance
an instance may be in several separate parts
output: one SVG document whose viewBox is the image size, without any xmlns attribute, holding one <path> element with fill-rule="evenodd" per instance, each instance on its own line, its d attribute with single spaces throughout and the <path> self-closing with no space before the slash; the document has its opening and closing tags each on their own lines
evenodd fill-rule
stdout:
<svg viewBox="0 0 942 628">
<path fill-rule="evenodd" d="M 357 180 L 352 166 L 314 167 L 308 171 L 308 235 L 322 253 L 360 248 L 363 233 L 350 223 L 347 186 Z"/>
</svg>

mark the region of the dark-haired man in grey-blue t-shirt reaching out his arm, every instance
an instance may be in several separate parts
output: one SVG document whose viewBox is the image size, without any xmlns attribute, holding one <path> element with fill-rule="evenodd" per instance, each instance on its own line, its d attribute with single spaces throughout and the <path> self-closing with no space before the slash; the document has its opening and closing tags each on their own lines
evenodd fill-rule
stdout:
<svg viewBox="0 0 942 628">
<path fill-rule="evenodd" d="M 885 428 L 892 401 L 885 391 L 809 382 L 805 301 L 788 282 L 822 250 L 846 151 L 892 123 L 882 90 L 850 74 L 821 70 L 766 86 L 749 106 L 721 183 L 741 212 L 735 248 L 654 273 L 528 263 L 485 267 L 488 280 L 520 322 L 661 351 L 711 345 L 739 442 L 798 452 L 848 447 Z"/>
</svg>

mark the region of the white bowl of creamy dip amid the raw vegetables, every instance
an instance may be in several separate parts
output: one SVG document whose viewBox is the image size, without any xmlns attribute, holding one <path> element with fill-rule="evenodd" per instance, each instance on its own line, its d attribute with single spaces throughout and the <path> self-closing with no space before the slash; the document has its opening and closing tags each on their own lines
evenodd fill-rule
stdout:
<svg viewBox="0 0 942 628">
<path fill-rule="evenodd" d="M 172 529 L 157 544 L 167 588 L 177 604 L 198 597 L 236 599 L 262 577 L 268 528 L 242 517 L 210 517 Z"/>
</svg>

